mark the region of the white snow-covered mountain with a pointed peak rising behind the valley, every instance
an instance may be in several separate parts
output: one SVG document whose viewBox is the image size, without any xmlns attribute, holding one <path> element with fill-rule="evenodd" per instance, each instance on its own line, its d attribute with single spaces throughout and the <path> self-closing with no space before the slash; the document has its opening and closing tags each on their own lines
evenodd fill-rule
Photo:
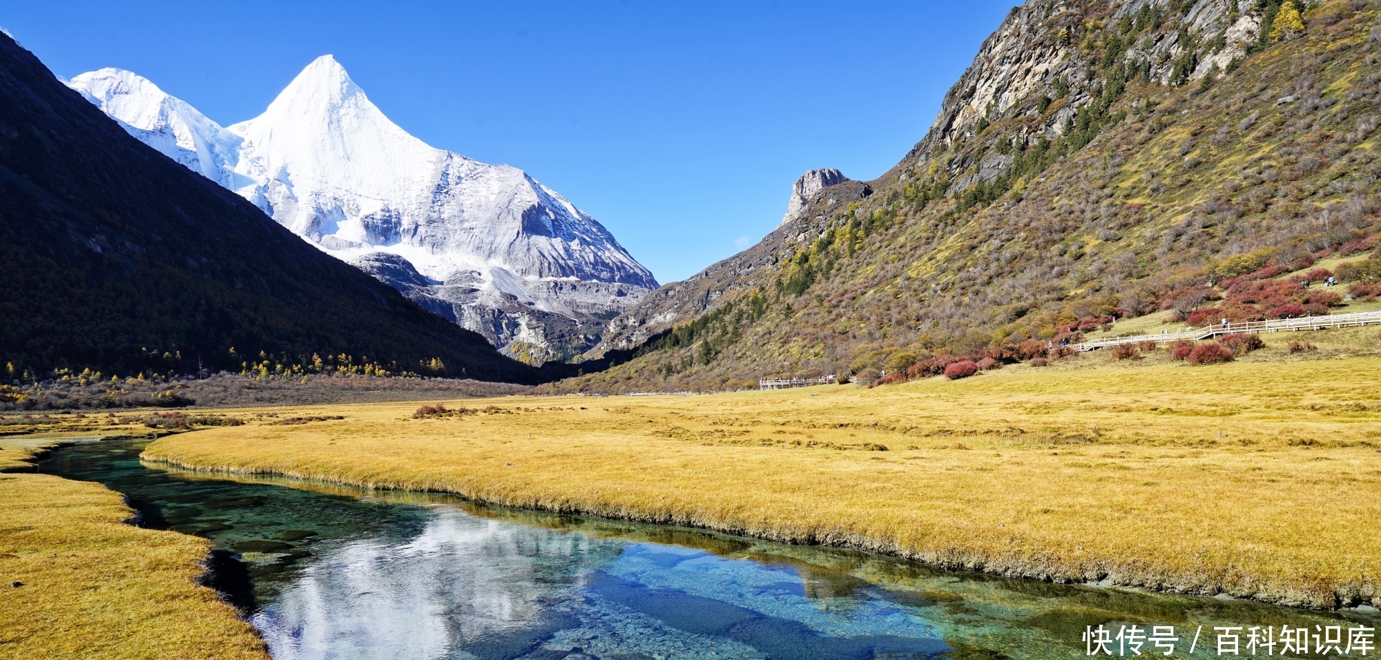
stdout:
<svg viewBox="0 0 1381 660">
<path fill-rule="evenodd" d="M 522 170 L 409 135 L 331 55 L 229 127 L 126 70 L 68 84 L 149 146 L 515 355 L 579 355 L 601 319 L 657 287 L 608 229 Z"/>
</svg>

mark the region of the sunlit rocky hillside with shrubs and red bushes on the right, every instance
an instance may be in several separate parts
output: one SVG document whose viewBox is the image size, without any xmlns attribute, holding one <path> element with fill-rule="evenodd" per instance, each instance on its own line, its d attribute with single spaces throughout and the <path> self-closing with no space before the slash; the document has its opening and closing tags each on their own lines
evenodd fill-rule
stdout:
<svg viewBox="0 0 1381 660">
<path fill-rule="evenodd" d="M 1377 10 L 1311 4 L 1293 30 L 1273 1 L 1033 0 L 892 171 L 653 293 L 613 322 L 655 340 L 641 358 L 552 389 L 732 389 L 1114 318 L 1349 311 L 1381 293 Z M 1288 284 L 1344 261 L 1338 287 Z"/>
</svg>

